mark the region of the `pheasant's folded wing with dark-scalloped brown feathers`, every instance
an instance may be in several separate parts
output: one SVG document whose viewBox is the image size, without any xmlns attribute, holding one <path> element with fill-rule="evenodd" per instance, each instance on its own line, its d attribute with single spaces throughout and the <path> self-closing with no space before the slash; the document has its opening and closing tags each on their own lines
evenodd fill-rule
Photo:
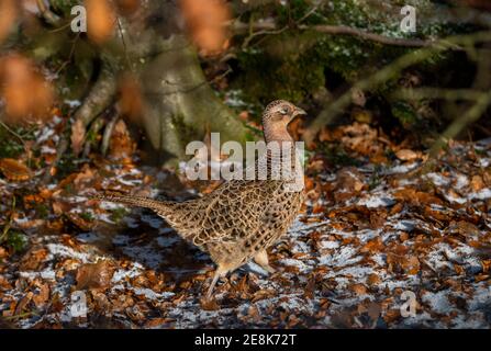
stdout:
<svg viewBox="0 0 491 351">
<path fill-rule="evenodd" d="M 278 185 L 274 181 L 234 180 L 224 183 L 203 199 L 200 230 L 192 241 L 198 246 L 236 241 L 256 233 Z"/>
</svg>

